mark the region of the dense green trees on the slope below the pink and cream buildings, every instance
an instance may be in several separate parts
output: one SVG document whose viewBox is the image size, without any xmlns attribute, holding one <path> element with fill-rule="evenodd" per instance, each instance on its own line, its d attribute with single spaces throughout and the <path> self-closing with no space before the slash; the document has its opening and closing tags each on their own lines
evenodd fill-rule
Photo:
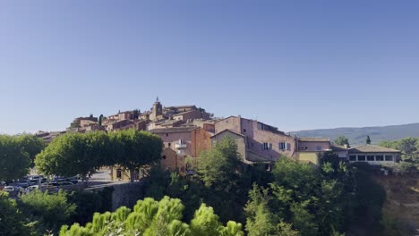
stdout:
<svg viewBox="0 0 419 236">
<path fill-rule="evenodd" d="M 249 235 L 328 235 L 333 229 L 345 231 L 350 200 L 344 190 L 353 190 L 353 181 L 346 164 L 330 163 L 330 158 L 323 156 L 320 168 L 280 158 L 269 188 L 253 186 L 249 192 L 245 206 Z"/>
</svg>

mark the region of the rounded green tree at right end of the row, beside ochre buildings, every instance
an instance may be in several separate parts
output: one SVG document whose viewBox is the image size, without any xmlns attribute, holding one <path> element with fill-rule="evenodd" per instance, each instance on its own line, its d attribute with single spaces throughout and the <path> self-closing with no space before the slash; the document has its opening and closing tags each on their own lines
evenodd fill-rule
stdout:
<svg viewBox="0 0 419 236">
<path fill-rule="evenodd" d="M 130 171 L 131 181 L 139 168 L 157 164 L 161 159 L 162 140 L 146 131 L 126 130 L 110 133 L 114 164 Z"/>
</svg>

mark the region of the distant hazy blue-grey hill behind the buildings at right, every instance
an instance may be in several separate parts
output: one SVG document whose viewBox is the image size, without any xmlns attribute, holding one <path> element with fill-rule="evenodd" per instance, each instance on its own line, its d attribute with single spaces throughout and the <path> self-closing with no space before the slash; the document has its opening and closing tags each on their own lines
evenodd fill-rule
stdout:
<svg viewBox="0 0 419 236">
<path fill-rule="evenodd" d="M 419 123 L 376 126 L 363 128 L 336 128 L 312 131 L 291 132 L 298 137 L 329 138 L 331 141 L 340 135 L 345 135 L 349 139 L 351 146 L 365 143 L 367 135 L 370 136 L 372 144 L 382 140 L 403 139 L 408 136 L 419 137 Z"/>
</svg>

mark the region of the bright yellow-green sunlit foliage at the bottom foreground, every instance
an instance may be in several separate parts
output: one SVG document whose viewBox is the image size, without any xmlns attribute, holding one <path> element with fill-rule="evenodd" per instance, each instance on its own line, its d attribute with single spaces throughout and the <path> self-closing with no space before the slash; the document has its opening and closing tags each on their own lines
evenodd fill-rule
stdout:
<svg viewBox="0 0 419 236">
<path fill-rule="evenodd" d="M 133 211 L 125 206 L 114 213 L 96 213 L 92 223 L 85 227 L 74 223 L 64 225 L 60 235 L 146 235 L 146 236 L 189 236 L 223 235 L 242 236 L 242 225 L 229 222 L 226 226 L 218 222 L 218 215 L 204 204 L 195 212 L 190 224 L 182 222 L 184 205 L 180 199 L 165 197 L 160 201 L 153 198 L 139 200 Z"/>
</svg>

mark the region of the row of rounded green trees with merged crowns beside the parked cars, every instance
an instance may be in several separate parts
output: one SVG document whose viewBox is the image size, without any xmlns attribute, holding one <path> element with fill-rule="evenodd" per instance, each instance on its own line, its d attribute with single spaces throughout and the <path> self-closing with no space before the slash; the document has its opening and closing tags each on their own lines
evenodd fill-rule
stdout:
<svg viewBox="0 0 419 236">
<path fill-rule="evenodd" d="M 131 173 L 156 164 L 161 158 L 161 139 L 147 131 L 73 132 L 56 137 L 35 164 L 45 174 L 85 178 L 101 166 L 119 165 Z"/>
</svg>

